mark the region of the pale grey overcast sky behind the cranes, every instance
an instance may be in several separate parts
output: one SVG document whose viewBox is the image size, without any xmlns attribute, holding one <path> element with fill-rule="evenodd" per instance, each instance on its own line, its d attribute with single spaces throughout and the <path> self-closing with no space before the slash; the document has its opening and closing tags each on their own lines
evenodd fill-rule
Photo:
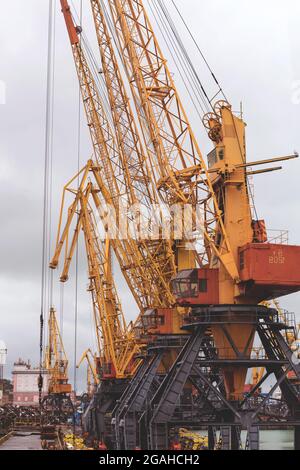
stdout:
<svg viewBox="0 0 300 470">
<path fill-rule="evenodd" d="M 79 0 L 73 3 L 78 7 Z M 89 31 L 88 0 L 83 5 Z M 177 5 L 234 107 L 243 102 L 248 159 L 299 150 L 299 1 L 177 0 Z M 0 339 L 8 347 L 9 376 L 18 357 L 38 361 L 48 0 L 0 0 L 0 7 L 0 91 L 6 85 L 6 103 L 0 105 Z M 78 84 L 58 2 L 56 10 L 53 237 L 61 190 L 76 171 L 78 153 Z M 189 41 L 187 46 L 192 47 Z M 196 55 L 195 63 L 201 76 L 205 71 Z M 201 124 L 195 116 L 192 120 L 200 147 L 207 152 L 210 145 Z M 82 162 L 90 153 L 82 118 Z M 255 179 L 259 216 L 269 228 L 289 229 L 290 241 L 297 244 L 299 174 L 300 161 L 293 161 L 280 173 Z M 93 344 L 82 266 L 78 354 Z M 136 309 L 123 283 L 121 296 L 127 317 L 134 318 Z M 54 298 L 59 308 L 56 282 Z M 290 296 L 281 303 L 298 312 L 299 298 Z M 72 367 L 74 302 L 72 277 L 64 301 L 64 337 Z M 80 384 L 83 375 L 82 371 Z"/>
</svg>

